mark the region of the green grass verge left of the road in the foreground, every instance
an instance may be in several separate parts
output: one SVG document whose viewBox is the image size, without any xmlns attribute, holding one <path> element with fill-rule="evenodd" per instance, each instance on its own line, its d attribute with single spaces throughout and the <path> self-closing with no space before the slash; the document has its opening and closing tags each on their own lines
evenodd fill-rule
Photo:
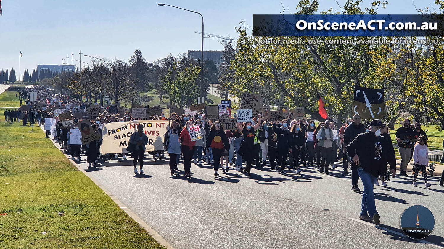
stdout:
<svg viewBox="0 0 444 249">
<path fill-rule="evenodd" d="M 39 127 L 0 120 L 0 248 L 162 248 Z"/>
</svg>

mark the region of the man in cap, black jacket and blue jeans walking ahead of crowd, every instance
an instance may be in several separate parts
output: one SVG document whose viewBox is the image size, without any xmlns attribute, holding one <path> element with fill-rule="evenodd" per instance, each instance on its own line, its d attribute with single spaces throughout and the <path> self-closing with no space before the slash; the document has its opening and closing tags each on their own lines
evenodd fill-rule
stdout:
<svg viewBox="0 0 444 249">
<path fill-rule="evenodd" d="M 365 221 L 373 220 L 376 224 L 380 222 L 380 215 L 376 211 L 373 185 L 380 176 L 380 171 L 386 169 L 382 166 L 387 163 L 390 165 L 392 176 L 396 174 L 396 157 L 394 150 L 390 148 L 391 141 L 381 136 L 383 126 L 381 120 L 372 120 L 370 130 L 359 134 L 347 146 L 347 153 L 353 158 L 352 169 L 357 169 L 364 184 L 359 218 Z"/>
</svg>

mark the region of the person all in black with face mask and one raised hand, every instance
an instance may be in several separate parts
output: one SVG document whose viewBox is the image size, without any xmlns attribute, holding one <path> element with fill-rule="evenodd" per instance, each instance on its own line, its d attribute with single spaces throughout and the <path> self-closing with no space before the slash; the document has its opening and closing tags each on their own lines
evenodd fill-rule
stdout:
<svg viewBox="0 0 444 249">
<path fill-rule="evenodd" d="M 281 127 L 276 127 L 276 123 L 273 123 L 273 132 L 276 133 L 277 138 L 277 165 L 281 165 L 281 174 L 285 175 L 285 165 L 287 163 L 288 151 L 292 153 L 291 150 L 291 135 L 288 129 L 288 120 L 282 120 Z M 276 165 L 276 172 L 278 171 Z"/>
</svg>

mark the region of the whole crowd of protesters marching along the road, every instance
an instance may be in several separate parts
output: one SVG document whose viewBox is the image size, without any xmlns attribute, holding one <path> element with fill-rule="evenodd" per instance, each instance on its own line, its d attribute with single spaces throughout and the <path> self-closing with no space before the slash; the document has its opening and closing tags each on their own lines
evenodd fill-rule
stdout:
<svg viewBox="0 0 444 249">
<path fill-rule="evenodd" d="M 34 108 L 30 111 L 23 111 L 22 107 L 16 110 L 5 111 L 5 121 L 26 123 L 38 123 L 43 125 L 45 119 L 57 118 L 53 111 L 46 111 L 51 106 L 48 99 L 56 98 L 54 101 L 64 100 L 60 107 L 70 103 L 71 105 L 82 104 L 83 102 L 69 98 L 69 96 L 59 96 L 50 89 L 36 86 L 32 91 L 38 92 L 40 100 L 45 100 L 44 107 Z M 27 96 L 20 93 L 21 101 L 32 105 L 27 100 Z M 51 101 L 52 102 L 52 101 Z M 78 118 L 71 115 L 73 123 L 70 127 L 64 127 L 62 120 L 58 120 L 56 131 L 46 130 L 45 136 L 54 132 L 54 137 L 60 142 L 65 153 L 71 154 L 72 160 L 80 160 L 80 153 L 83 150 L 87 155 L 88 167 L 95 167 L 101 158 L 99 149 L 102 139 L 87 143 L 86 145 L 71 145 L 71 129 L 79 129 Z M 287 165 L 292 173 L 300 174 L 304 169 L 317 169 L 318 172 L 330 174 L 330 169 L 336 169 L 340 165 L 335 161 L 341 160 L 343 165 L 342 174 L 351 174 L 352 187 L 355 192 L 359 192 L 359 179 L 364 185 L 362 208 L 360 218 L 379 223 L 379 215 L 376 211 L 373 197 L 373 185 L 387 187 L 389 174 L 396 174 L 395 148 L 393 147 L 388 126 L 379 119 L 371 122 L 361 123 L 360 115 L 354 115 L 347 119 L 341 127 L 336 127 L 332 119 L 323 120 L 319 123 L 305 117 L 303 119 L 282 119 L 279 121 L 263 120 L 259 114 L 253 120 L 237 123 L 235 130 L 226 130 L 219 120 L 208 120 L 206 115 L 198 112 L 195 115 L 181 115 L 171 113 L 169 117 L 162 115 L 152 115 L 150 119 L 168 120 L 169 128 L 163 135 L 163 150 L 149 152 L 153 159 L 162 158 L 164 154 L 169 155 L 170 174 L 178 172 L 178 165 L 184 168 L 184 177 L 191 177 L 191 165 L 200 167 L 202 163 L 212 165 L 214 176 L 219 176 L 219 169 L 227 173 L 230 171 L 229 165 L 234 166 L 234 170 L 251 176 L 251 169 L 255 165 L 260 170 L 263 167 L 270 167 L 276 172 L 287 174 Z M 69 119 L 67 119 L 69 120 Z M 93 117 L 91 126 L 94 131 L 102 134 L 103 125 L 112 122 L 125 122 L 137 120 L 131 114 L 124 115 L 111 114 L 107 109 Z M 203 134 L 202 139 L 192 141 L 188 128 L 198 125 Z M 147 135 L 143 132 L 143 125 L 137 126 L 137 132 L 131 134 L 128 151 L 132 152 L 134 162 L 134 172 L 143 173 L 143 161 L 145 157 Z M 337 129 L 339 128 L 339 129 Z M 337 130 L 337 136 L 335 132 Z M 406 145 L 402 142 L 400 134 L 405 132 L 417 133 L 418 141 L 414 144 Z M 417 186 L 417 175 L 421 175 L 425 182 L 425 187 L 431 186 L 427 181 L 426 167 L 428 166 L 428 143 L 427 134 L 421 130 L 419 122 L 412 125 L 409 119 L 404 119 L 402 126 L 396 131 L 398 150 L 401 156 L 400 175 L 407 175 L 407 165 L 413 159 L 413 181 L 412 185 Z M 131 149 L 129 149 L 131 147 Z M 126 153 L 111 154 L 108 156 L 123 156 Z M 137 162 L 139 161 L 139 171 Z M 225 164 L 224 164 L 225 162 Z M 303 166 L 302 166 L 303 165 Z M 389 167 L 388 167 L 389 166 Z M 233 169 L 233 168 L 231 168 Z M 350 170 L 350 171 L 349 171 Z M 443 172 L 444 173 L 444 172 Z M 441 177 L 440 186 L 443 186 L 444 176 Z M 367 215 L 368 214 L 368 215 Z"/>
</svg>

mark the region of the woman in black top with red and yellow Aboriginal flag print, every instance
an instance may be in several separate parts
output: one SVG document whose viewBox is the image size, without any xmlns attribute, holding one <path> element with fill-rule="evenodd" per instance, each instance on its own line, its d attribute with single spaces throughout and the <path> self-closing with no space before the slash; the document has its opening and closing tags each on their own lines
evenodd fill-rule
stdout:
<svg viewBox="0 0 444 249">
<path fill-rule="evenodd" d="M 218 169 L 222 154 L 227 153 L 228 149 L 230 149 L 230 143 L 228 142 L 228 138 L 226 137 L 225 131 L 223 130 L 222 125 L 219 121 L 214 122 L 214 124 L 211 126 L 208 138 L 206 139 L 206 148 L 211 148 L 214 159 L 214 176 L 219 176 Z M 226 169 L 224 169 L 223 165 L 222 171 L 226 172 Z"/>
</svg>

